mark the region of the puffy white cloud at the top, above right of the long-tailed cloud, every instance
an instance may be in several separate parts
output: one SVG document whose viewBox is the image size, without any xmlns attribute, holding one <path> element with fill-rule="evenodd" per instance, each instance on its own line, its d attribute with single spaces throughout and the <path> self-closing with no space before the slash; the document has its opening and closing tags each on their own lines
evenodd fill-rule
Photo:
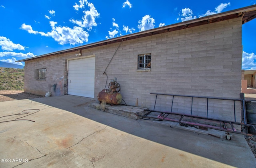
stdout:
<svg viewBox="0 0 256 168">
<path fill-rule="evenodd" d="M 77 24 L 78 26 L 80 26 L 82 28 L 87 28 L 88 30 L 91 30 L 92 26 L 97 26 L 97 23 L 95 22 L 95 18 L 97 18 L 100 14 L 98 13 L 96 8 L 94 7 L 94 4 L 88 3 L 87 0 L 82 0 L 81 2 L 86 2 L 88 7 L 90 8 L 90 10 L 84 10 L 83 11 L 84 16 L 82 16 L 82 20 L 70 19 L 69 21 L 74 23 L 74 24 Z"/>
</svg>

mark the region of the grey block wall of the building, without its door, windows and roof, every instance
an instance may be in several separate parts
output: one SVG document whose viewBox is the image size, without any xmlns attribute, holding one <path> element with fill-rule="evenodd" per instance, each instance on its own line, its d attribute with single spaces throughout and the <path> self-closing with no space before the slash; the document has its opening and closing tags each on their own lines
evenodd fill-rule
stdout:
<svg viewBox="0 0 256 168">
<path fill-rule="evenodd" d="M 106 75 L 102 74 L 120 43 L 82 50 L 82 56 L 96 56 L 95 100 L 104 89 Z M 211 23 L 137 38 L 122 42 L 110 62 L 107 83 L 117 77 L 121 94 L 127 104 L 154 108 L 155 95 L 150 92 L 191 96 L 240 98 L 242 65 L 242 18 Z M 138 54 L 151 53 L 151 70 L 138 71 Z M 67 53 L 26 61 L 25 92 L 45 94 L 57 84 L 66 93 L 66 62 L 75 53 Z M 36 81 L 34 70 L 47 68 L 46 81 Z M 209 100 L 210 118 L 232 119 L 234 103 Z M 172 97 L 159 96 L 156 110 L 170 111 Z M 173 110 L 190 114 L 191 100 L 177 98 Z M 217 105 L 216 105 L 217 104 Z M 236 103 L 236 118 L 240 118 L 240 103 Z M 193 115 L 206 116 L 206 100 L 193 100 Z"/>
</svg>

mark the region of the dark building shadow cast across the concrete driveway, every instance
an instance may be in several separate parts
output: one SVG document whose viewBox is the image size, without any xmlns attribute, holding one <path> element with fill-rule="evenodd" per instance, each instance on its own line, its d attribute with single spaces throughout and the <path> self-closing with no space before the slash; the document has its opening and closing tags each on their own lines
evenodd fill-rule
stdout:
<svg viewBox="0 0 256 168">
<path fill-rule="evenodd" d="M 134 120 L 88 107 L 89 103 L 94 102 L 92 98 L 65 95 L 34 98 L 32 100 L 78 114 L 128 134 L 210 160 L 235 167 L 251 167 L 256 165 L 256 159 L 246 140 L 238 134 L 232 134 L 232 140 L 228 141 L 225 139 L 224 132 L 216 130 L 200 133 L 196 129 L 180 129 L 178 126 L 172 125 L 173 123 L 171 122 Z M 210 136 L 208 133 L 217 135 L 220 138 Z"/>
</svg>

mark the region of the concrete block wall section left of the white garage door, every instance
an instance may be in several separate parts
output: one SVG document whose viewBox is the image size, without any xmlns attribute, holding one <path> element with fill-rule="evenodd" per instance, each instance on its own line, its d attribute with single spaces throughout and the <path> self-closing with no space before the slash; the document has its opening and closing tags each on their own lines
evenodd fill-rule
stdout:
<svg viewBox="0 0 256 168">
<path fill-rule="evenodd" d="M 52 61 L 51 61 L 52 60 Z M 36 69 L 46 68 L 46 79 L 36 80 Z M 47 56 L 25 62 L 24 92 L 52 96 L 64 95 L 65 61 L 60 56 Z"/>
</svg>

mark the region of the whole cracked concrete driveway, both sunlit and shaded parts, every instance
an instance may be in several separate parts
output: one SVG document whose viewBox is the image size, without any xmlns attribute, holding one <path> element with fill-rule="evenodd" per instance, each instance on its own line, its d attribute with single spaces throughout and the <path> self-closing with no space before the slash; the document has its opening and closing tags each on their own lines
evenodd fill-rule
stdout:
<svg viewBox="0 0 256 168">
<path fill-rule="evenodd" d="M 70 95 L 0 102 L 0 167 L 256 165 L 246 140 L 238 134 L 228 141 L 224 132 L 211 132 L 221 137 L 216 138 L 166 123 L 133 120 L 90 108 L 89 102 L 92 99 Z M 23 110 L 30 115 L 8 116 Z"/>
</svg>

